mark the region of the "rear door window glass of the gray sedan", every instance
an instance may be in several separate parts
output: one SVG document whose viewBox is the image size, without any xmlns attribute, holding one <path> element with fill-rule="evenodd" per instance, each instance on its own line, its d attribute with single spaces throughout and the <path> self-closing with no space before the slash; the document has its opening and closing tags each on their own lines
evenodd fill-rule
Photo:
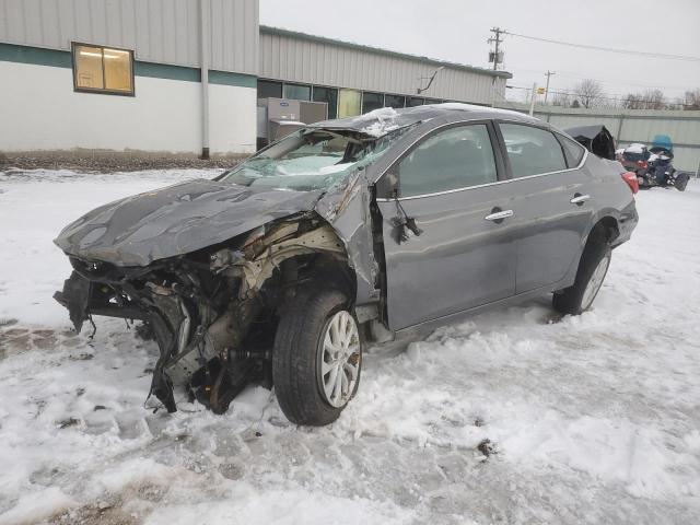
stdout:
<svg viewBox="0 0 700 525">
<path fill-rule="evenodd" d="M 500 124 L 513 177 L 567 170 L 561 144 L 545 129 L 520 124 Z"/>
</svg>

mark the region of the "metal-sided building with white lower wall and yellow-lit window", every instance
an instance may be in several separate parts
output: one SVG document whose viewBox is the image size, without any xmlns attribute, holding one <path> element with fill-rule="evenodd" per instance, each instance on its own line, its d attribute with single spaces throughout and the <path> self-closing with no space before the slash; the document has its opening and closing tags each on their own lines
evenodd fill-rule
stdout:
<svg viewBox="0 0 700 525">
<path fill-rule="evenodd" d="M 0 152 L 248 154 L 261 97 L 349 116 L 491 104 L 511 77 L 260 27 L 258 13 L 257 0 L 0 0 Z"/>
</svg>

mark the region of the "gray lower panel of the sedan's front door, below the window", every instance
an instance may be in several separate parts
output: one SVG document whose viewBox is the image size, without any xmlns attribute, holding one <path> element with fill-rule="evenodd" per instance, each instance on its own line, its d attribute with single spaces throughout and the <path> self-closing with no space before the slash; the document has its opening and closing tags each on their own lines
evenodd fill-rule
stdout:
<svg viewBox="0 0 700 525">
<path fill-rule="evenodd" d="M 515 253 L 508 221 L 483 218 L 505 209 L 498 185 L 402 200 L 422 230 L 398 243 L 395 201 L 383 217 L 389 328 L 397 330 L 515 293 Z"/>
</svg>

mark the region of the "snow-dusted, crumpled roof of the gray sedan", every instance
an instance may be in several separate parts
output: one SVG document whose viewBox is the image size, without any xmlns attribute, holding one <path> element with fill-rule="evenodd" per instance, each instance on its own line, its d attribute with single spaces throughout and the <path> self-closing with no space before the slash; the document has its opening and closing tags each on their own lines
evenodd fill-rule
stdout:
<svg viewBox="0 0 700 525">
<path fill-rule="evenodd" d="M 434 118 L 455 121 L 505 119 L 526 124 L 544 124 L 538 118 L 511 109 L 448 102 L 444 104 L 428 104 L 399 109 L 382 107 L 357 117 L 323 120 L 320 122 L 310 125 L 308 127 L 329 130 L 353 130 L 372 137 L 382 137 L 394 129 L 417 122 L 424 122 Z"/>
</svg>

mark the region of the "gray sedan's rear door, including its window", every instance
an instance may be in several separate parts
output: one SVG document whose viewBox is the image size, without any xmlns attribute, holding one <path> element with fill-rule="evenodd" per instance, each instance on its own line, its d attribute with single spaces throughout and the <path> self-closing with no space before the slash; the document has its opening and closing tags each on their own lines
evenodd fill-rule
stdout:
<svg viewBox="0 0 700 525">
<path fill-rule="evenodd" d="M 556 289 L 570 275 L 592 208 L 585 150 L 545 128 L 499 122 L 515 210 L 516 293 Z M 569 141 L 562 143 L 562 141 Z"/>
</svg>

